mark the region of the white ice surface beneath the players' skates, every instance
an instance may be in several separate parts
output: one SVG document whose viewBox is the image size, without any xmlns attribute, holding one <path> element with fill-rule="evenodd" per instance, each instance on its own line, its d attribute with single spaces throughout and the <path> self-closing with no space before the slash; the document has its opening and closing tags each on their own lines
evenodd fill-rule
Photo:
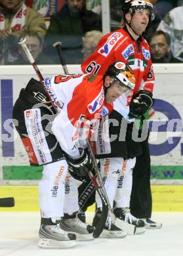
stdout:
<svg viewBox="0 0 183 256">
<path fill-rule="evenodd" d="M 91 222 L 90 215 L 87 219 Z M 183 213 L 153 213 L 152 219 L 163 227 L 126 238 L 77 242 L 68 249 L 41 249 L 37 247 L 39 213 L 0 212 L 0 255 L 182 256 Z"/>
</svg>

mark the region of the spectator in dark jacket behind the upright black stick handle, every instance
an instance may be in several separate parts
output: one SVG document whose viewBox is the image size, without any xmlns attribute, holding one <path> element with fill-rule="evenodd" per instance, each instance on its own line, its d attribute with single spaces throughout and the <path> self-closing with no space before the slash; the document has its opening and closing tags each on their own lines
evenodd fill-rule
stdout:
<svg viewBox="0 0 183 256">
<path fill-rule="evenodd" d="M 85 0 L 68 0 L 60 11 L 51 16 L 45 39 L 45 51 L 57 63 L 59 58 L 52 44 L 62 41 L 66 63 L 79 64 L 83 60 L 82 37 L 91 30 L 102 31 L 100 16 L 86 9 Z"/>
</svg>

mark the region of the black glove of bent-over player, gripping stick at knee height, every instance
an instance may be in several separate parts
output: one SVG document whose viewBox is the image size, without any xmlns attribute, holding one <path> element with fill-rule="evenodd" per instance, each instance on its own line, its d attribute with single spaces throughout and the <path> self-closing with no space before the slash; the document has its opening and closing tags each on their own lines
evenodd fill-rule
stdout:
<svg viewBox="0 0 183 256">
<path fill-rule="evenodd" d="M 81 156 L 79 158 L 70 158 L 69 156 L 66 156 L 66 159 L 68 161 L 68 170 L 70 173 L 73 173 L 73 177 L 85 177 L 87 174 L 87 171 L 94 168 L 94 165 L 92 163 L 91 154 L 89 152 L 88 148 L 79 148 L 79 152 Z"/>
</svg>

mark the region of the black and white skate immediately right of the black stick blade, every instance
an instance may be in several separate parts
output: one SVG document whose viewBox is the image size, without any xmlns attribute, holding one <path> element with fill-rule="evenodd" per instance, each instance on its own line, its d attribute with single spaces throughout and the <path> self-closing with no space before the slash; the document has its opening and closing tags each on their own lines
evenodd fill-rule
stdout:
<svg viewBox="0 0 183 256">
<path fill-rule="evenodd" d="M 98 224 L 98 221 L 100 220 L 101 211 L 100 209 L 97 209 L 94 219 L 92 221 L 92 226 L 96 226 Z M 110 217 L 108 217 L 106 221 L 106 225 L 104 227 L 104 230 L 102 231 L 101 237 L 106 238 L 125 238 L 127 236 L 127 233 L 115 226 L 115 224 L 112 223 L 112 220 Z"/>
</svg>

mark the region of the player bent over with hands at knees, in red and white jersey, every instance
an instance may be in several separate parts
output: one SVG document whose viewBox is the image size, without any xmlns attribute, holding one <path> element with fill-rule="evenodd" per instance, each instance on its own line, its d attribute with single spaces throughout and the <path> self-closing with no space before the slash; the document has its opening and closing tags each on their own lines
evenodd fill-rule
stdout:
<svg viewBox="0 0 183 256">
<path fill-rule="evenodd" d="M 31 79 L 20 91 L 13 108 L 16 129 L 31 165 L 43 165 L 39 182 L 40 247 L 71 247 L 77 240 L 92 239 L 92 227 L 77 218 L 77 187 L 70 188 L 72 214 L 64 215 L 65 180 L 68 169 L 85 177 L 93 169 L 85 142 L 94 126 L 113 109 L 113 102 L 134 88 L 134 74 L 123 62 L 115 62 L 104 75 L 55 75 L 45 85 L 60 108 L 52 110 L 41 83 Z M 92 127 L 92 128 L 90 128 Z M 70 202 L 65 203 L 70 205 Z"/>
</svg>

